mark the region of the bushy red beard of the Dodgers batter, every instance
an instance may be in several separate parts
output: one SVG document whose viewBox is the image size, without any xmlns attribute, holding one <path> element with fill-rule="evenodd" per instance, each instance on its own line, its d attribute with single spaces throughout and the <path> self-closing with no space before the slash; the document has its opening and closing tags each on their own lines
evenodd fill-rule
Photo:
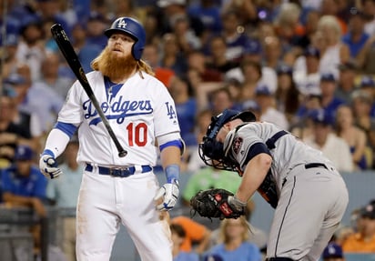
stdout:
<svg viewBox="0 0 375 261">
<path fill-rule="evenodd" d="M 118 57 L 108 47 L 103 50 L 102 58 L 98 61 L 98 70 L 109 79 L 123 79 L 134 73 L 137 61 L 132 55 Z"/>
</svg>

